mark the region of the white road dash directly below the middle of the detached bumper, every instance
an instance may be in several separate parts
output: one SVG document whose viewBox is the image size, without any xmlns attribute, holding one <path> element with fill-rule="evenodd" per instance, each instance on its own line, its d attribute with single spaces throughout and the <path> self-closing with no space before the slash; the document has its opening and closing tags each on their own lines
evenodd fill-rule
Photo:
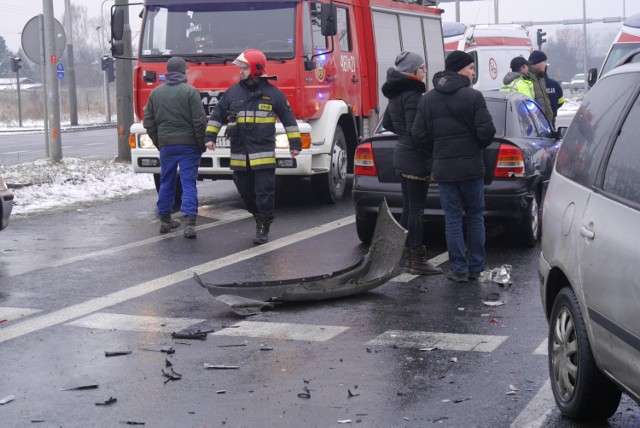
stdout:
<svg viewBox="0 0 640 428">
<path fill-rule="evenodd" d="M 347 331 L 349 327 L 332 325 L 290 324 L 279 322 L 241 321 L 233 328 L 211 333 L 212 336 L 267 337 L 281 340 L 324 342 Z"/>
</svg>

